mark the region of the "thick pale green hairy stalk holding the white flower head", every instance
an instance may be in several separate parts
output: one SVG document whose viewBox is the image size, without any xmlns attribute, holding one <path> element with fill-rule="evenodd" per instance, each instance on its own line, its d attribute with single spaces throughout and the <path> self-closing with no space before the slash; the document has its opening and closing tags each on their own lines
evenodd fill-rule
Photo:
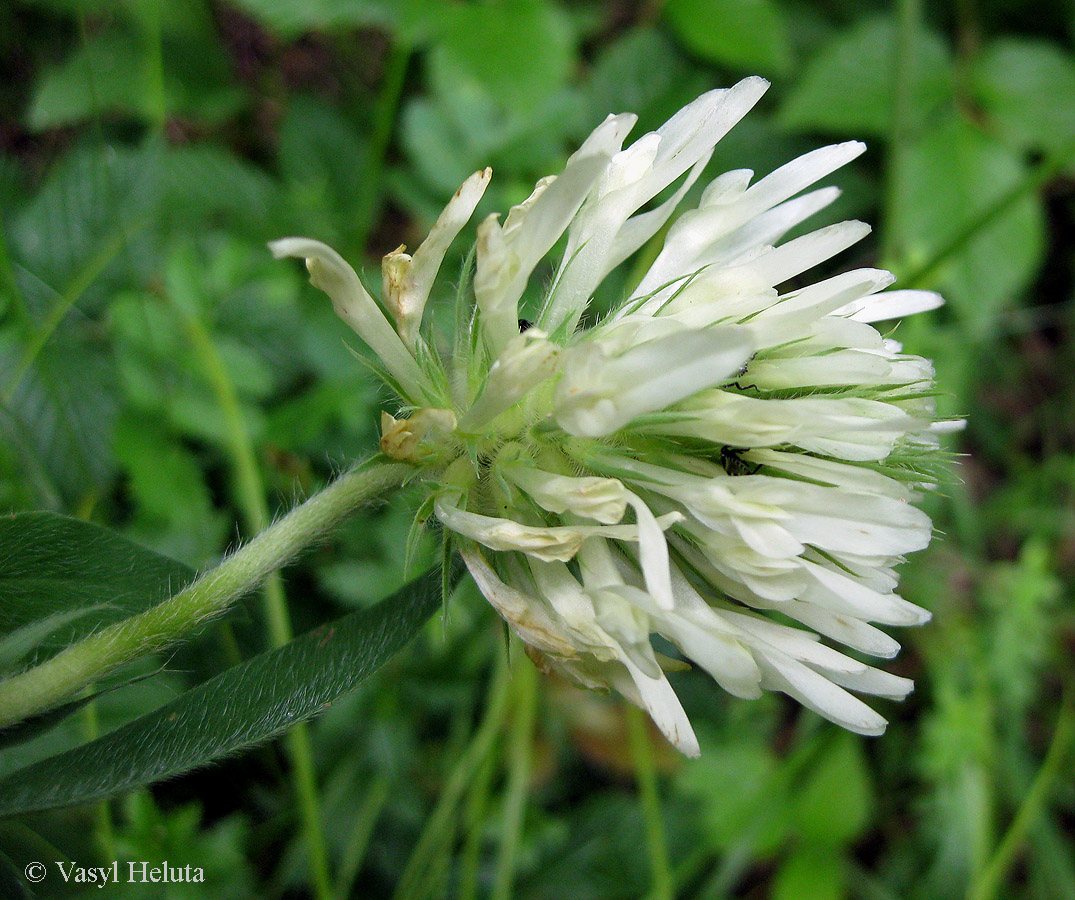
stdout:
<svg viewBox="0 0 1075 900">
<path fill-rule="evenodd" d="M 44 712 L 125 662 L 180 641 L 413 471 L 401 462 L 352 469 L 175 596 L 0 681 L 0 727 Z"/>
</svg>

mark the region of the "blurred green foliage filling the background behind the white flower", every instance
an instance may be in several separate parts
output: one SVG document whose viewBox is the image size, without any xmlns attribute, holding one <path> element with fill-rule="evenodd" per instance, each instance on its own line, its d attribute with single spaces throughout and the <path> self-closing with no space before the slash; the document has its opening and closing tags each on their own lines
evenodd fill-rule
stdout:
<svg viewBox="0 0 1075 900">
<path fill-rule="evenodd" d="M 414 246 L 472 171 L 494 169 L 478 215 L 505 210 L 606 113 L 639 113 L 641 133 L 702 90 L 764 74 L 773 87 L 711 174 L 869 140 L 833 181 L 837 214 L 878 237 L 840 266 L 883 265 L 946 295 L 895 337 L 936 360 L 943 411 L 970 425 L 952 444 L 958 477 L 927 500 L 938 539 L 905 567 L 906 595 L 935 617 L 892 663 L 918 690 L 885 710 L 885 738 L 676 676 L 703 756 L 655 746 L 675 896 L 1069 900 L 1073 35 L 1064 0 L 4 3 L 0 505 L 211 565 L 242 504 L 207 360 L 273 512 L 377 434 L 383 398 L 361 349 L 264 241 L 328 241 L 364 260 L 373 286 L 379 256 Z M 393 499 L 287 570 L 297 631 L 398 587 L 412 520 Z M 206 632 L 125 671 L 169 666 L 0 752 L 0 770 L 262 649 L 260 618 L 247 601 L 230 644 Z M 524 900 L 659 896 L 615 699 L 543 682 L 520 757 L 529 802 L 518 833 L 505 828 L 519 711 L 502 656 L 494 616 L 464 589 L 316 723 L 340 898 L 491 896 L 508 841 Z M 154 897 L 312 896 L 287 767 L 262 748 L 105 805 L 0 823 L 0 891 L 31 859 L 168 858 L 207 882 Z M 40 896 L 98 895 L 53 877 Z"/>
</svg>

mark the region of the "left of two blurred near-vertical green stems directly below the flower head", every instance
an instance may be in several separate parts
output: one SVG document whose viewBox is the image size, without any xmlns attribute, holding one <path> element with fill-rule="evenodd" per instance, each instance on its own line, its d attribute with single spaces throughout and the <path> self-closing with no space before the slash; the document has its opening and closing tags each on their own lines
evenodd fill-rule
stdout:
<svg viewBox="0 0 1075 900">
<path fill-rule="evenodd" d="M 520 655 L 515 666 L 515 727 L 512 729 L 511 758 L 501 826 L 500 856 L 492 886 L 492 900 L 511 900 L 518 865 L 522 814 L 527 808 L 532 769 L 534 718 L 538 709 L 538 670 Z"/>
</svg>

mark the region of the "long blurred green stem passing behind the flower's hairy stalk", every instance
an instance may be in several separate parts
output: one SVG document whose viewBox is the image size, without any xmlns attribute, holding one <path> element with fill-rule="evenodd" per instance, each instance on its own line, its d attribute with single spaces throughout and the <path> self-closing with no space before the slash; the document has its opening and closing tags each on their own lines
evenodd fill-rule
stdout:
<svg viewBox="0 0 1075 900">
<path fill-rule="evenodd" d="M 195 315 L 185 314 L 178 304 L 176 309 L 183 317 L 187 333 L 194 344 L 195 352 L 210 382 L 224 418 L 224 429 L 228 441 L 228 451 L 235 474 L 235 485 L 239 491 L 239 506 L 246 529 L 252 534 L 263 531 L 269 525 L 269 504 L 266 502 L 264 484 L 258 469 L 254 442 L 243 417 L 243 409 L 239 401 L 234 384 L 220 354 L 217 352 L 213 338 L 206 331 L 201 320 Z M 269 628 L 270 643 L 281 647 L 291 640 L 293 632 L 291 619 L 287 611 L 287 596 L 284 592 L 284 582 L 278 572 L 270 573 L 263 588 L 263 609 Z M 303 724 L 296 725 L 284 735 L 284 747 L 291 761 L 291 782 L 296 800 L 299 804 L 299 816 L 302 820 L 306 849 L 310 854 L 311 875 L 317 900 L 332 900 L 332 878 L 329 872 L 328 847 L 325 843 L 325 831 L 321 827 L 320 799 L 317 790 L 317 773 L 314 767 L 313 747 L 310 731 Z"/>
</svg>

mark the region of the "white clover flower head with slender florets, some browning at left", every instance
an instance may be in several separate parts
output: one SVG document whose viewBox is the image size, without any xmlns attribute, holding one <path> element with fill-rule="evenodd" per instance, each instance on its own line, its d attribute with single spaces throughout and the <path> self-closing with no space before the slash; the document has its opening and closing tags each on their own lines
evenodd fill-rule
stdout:
<svg viewBox="0 0 1075 900">
<path fill-rule="evenodd" d="M 427 476 L 438 519 L 531 656 L 616 688 L 688 755 L 698 743 L 654 633 L 736 697 L 784 691 L 877 734 L 885 719 L 852 691 L 902 698 L 911 682 L 819 635 L 891 657 L 899 644 L 875 626 L 929 618 L 893 591 L 895 566 L 930 540 L 908 501 L 931 484 L 933 370 L 871 323 L 941 299 L 886 291 L 892 276 L 875 269 L 782 287 L 868 233 L 850 222 L 780 243 L 836 196 L 802 191 L 861 144 L 754 184 L 746 170 L 716 178 L 626 301 L 580 327 L 594 289 L 663 227 L 766 86 L 703 95 L 626 149 L 634 117 L 610 116 L 560 175 L 502 223 L 488 216 L 450 355 L 424 334 L 422 313 L 489 170 L 413 256 L 385 257 L 387 315 L 330 248 L 272 245 L 306 259 L 379 357 L 411 411 L 384 414 L 383 452 Z M 562 237 L 534 326 L 520 330 L 520 299 Z"/>
</svg>

